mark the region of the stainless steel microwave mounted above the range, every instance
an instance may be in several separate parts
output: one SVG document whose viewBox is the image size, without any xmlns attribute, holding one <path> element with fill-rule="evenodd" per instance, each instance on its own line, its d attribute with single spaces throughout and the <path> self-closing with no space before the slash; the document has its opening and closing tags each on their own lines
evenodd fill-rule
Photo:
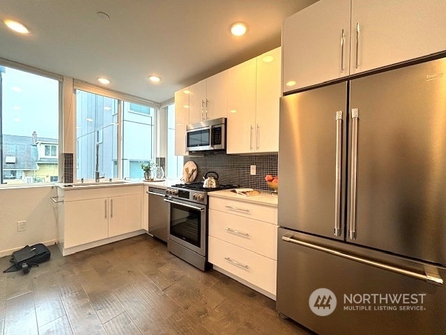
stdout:
<svg viewBox="0 0 446 335">
<path fill-rule="evenodd" d="M 226 149 L 226 118 L 201 121 L 186 126 L 186 150 Z"/>
</svg>

